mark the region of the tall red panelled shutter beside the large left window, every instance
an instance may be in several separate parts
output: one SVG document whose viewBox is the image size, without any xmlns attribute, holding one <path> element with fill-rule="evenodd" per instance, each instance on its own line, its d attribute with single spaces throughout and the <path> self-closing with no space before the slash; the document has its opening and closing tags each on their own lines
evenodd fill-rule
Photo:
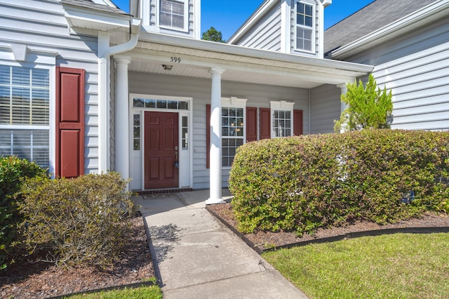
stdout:
<svg viewBox="0 0 449 299">
<path fill-rule="evenodd" d="M 84 69 L 56 67 L 55 176 L 84 173 Z"/>
</svg>

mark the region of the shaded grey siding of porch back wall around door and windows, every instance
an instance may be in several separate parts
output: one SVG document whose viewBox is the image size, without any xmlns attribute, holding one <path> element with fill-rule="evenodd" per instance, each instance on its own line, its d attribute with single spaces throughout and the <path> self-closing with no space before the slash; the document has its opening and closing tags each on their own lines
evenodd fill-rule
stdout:
<svg viewBox="0 0 449 299">
<path fill-rule="evenodd" d="M 206 168 L 206 104 L 210 104 L 211 81 L 130 72 L 129 92 L 193 98 L 192 150 L 194 189 L 209 187 Z M 176 86 L 176 88 L 173 88 Z M 304 132 L 309 131 L 309 91 L 298 88 L 262 86 L 222 81 L 222 96 L 248 99 L 246 107 L 270 107 L 270 100 L 295 102 L 294 109 L 304 110 Z M 222 170 L 222 185 L 227 186 L 229 169 Z"/>
</svg>

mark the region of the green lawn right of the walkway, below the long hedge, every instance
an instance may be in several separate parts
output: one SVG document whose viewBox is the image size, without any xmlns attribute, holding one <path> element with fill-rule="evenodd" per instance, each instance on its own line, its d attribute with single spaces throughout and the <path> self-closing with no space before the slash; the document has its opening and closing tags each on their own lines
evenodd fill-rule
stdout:
<svg viewBox="0 0 449 299">
<path fill-rule="evenodd" d="M 361 237 L 263 257 L 309 298 L 449 298 L 449 233 Z"/>
</svg>

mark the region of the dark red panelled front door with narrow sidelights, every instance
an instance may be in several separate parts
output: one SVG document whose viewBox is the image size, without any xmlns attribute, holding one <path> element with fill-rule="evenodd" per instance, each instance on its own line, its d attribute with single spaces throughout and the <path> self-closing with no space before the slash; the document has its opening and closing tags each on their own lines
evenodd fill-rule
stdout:
<svg viewBox="0 0 449 299">
<path fill-rule="evenodd" d="M 177 113 L 145 112 L 145 189 L 178 187 Z"/>
</svg>

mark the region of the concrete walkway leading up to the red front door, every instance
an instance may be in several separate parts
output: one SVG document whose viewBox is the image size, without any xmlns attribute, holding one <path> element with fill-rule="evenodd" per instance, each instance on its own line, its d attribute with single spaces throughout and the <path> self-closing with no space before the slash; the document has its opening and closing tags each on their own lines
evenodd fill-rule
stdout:
<svg viewBox="0 0 449 299">
<path fill-rule="evenodd" d="M 134 200 L 164 298 L 306 298 L 206 211 L 208 190 L 145 198 Z"/>
</svg>

